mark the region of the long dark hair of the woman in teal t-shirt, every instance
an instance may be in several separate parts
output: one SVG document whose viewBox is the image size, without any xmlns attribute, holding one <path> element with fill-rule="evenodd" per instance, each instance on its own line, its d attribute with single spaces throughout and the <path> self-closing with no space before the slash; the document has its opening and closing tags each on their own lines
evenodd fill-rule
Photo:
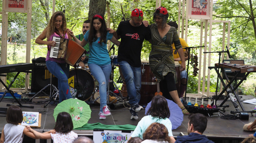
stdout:
<svg viewBox="0 0 256 143">
<path fill-rule="evenodd" d="M 101 34 L 101 36 L 100 36 L 100 45 L 102 45 L 102 42 L 104 42 L 106 44 L 107 43 L 107 25 L 106 25 L 104 16 L 102 14 L 96 14 L 96 15 L 100 15 L 102 17 L 102 19 L 99 18 L 99 17 L 92 18 L 91 24 L 90 24 L 90 32 L 89 32 L 89 36 L 88 36 L 89 44 L 92 45 L 92 42 L 95 42 L 98 39 L 98 37 L 96 35 L 96 30 L 93 27 L 93 21 L 95 19 L 98 19 L 101 22 L 101 27 L 100 27 L 100 34 Z"/>
</svg>

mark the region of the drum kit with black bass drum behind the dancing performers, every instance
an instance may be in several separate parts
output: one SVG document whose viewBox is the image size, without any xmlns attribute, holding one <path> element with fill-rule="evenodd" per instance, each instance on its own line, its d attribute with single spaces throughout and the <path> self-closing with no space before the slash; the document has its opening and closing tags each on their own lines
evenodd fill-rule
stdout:
<svg viewBox="0 0 256 143">
<path fill-rule="evenodd" d="M 110 76 L 108 89 L 107 89 L 107 104 L 111 105 L 116 101 L 120 101 L 120 104 L 126 103 L 124 101 L 125 98 L 123 98 L 121 92 L 119 91 L 117 85 L 115 84 L 113 79 L 113 70 L 115 66 L 119 66 L 117 62 L 117 55 L 111 55 L 111 64 L 112 64 L 112 74 Z M 112 77 L 112 79 L 111 79 Z M 75 96 L 76 98 L 83 100 L 83 101 L 89 101 L 90 104 L 100 104 L 100 94 L 99 94 L 99 83 L 96 80 L 95 77 L 90 73 L 90 69 L 87 64 L 85 64 L 85 68 L 77 67 L 77 68 L 71 68 L 69 70 L 69 85 L 71 88 L 71 95 Z M 110 83 L 113 83 L 115 88 L 119 91 L 119 95 L 115 94 L 113 91 L 110 90 Z M 71 86 L 73 84 L 73 86 Z M 109 100 L 110 97 L 115 97 L 113 100 Z M 113 106 L 115 107 L 115 106 Z"/>
</svg>

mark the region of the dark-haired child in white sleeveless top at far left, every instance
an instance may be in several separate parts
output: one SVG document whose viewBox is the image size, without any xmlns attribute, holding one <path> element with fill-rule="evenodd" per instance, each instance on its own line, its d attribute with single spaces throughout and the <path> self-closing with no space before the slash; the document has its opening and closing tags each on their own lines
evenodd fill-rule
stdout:
<svg viewBox="0 0 256 143">
<path fill-rule="evenodd" d="M 37 139 L 25 126 L 19 125 L 23 120 L 22 110 L 16 105 L 12 105 L 7 110 L 7 124 L 3 127 L 0 143 L 15 142 L 22 143 L 24 135 Z M 46 133 L 54 132 L 53 130 Z"/>
</svg>

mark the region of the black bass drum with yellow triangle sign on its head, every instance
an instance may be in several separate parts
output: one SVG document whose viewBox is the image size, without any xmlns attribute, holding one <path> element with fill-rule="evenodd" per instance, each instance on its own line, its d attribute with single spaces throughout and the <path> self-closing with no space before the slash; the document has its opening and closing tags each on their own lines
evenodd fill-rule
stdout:
<svg viewBox="0 0 256 143">
<path fill-rule="evenodd" d="M 88 100 L 94 91 L 94 79 L 92 75 L 84 69 L 71 69 L 69 79 L 73 81 L 73 88 L 77 90 L 76 98 L 82 101 Z M 69 83 L 69 86 L 72 84 Z M 72 86 L 71 86 L 72 87 Z"/>
</svg>

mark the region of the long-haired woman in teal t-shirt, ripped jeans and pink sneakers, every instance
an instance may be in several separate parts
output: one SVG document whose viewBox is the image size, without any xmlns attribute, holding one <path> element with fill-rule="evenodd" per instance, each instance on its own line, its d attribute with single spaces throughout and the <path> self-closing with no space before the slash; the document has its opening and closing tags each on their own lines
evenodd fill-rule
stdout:
<svg viewBox="0 0 256 143">
<path fill-rule="evenodd" d="M 68 29 L 68 33 L 82 47 L 89 42 L 90 55 L 88 66 L 91 74 L 99 82 L 100 90 L 100 119 L 106 119 L 106 116 L 111 115 L 107 106 L 107 90 L 108 80 L 112 70 L 111 60 L 108 54 L 107 41 L 110 40 L 115 45 L 119 46 L 120 41 L 116 40 L 113 34 L 107 31 L 107 25 L 102 14 L 93 16 L 90 30 L 84 34 L 84 39 L 80 41 L 75 37 L 72 31 Z"/>
</svg>

